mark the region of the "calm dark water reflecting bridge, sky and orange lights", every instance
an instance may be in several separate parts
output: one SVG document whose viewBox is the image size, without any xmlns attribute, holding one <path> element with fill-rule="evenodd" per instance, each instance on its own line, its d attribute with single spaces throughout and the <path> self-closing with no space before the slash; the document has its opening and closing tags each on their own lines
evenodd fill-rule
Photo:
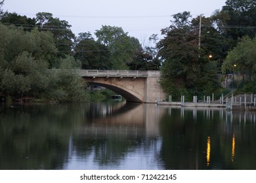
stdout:
<svg viewBox="0 0 256 183">
<path fill-rule="evenodd" d="M 256 169 L 256 114 L 154 104 L 0 109 L 0 169 Z"/>
</svg>

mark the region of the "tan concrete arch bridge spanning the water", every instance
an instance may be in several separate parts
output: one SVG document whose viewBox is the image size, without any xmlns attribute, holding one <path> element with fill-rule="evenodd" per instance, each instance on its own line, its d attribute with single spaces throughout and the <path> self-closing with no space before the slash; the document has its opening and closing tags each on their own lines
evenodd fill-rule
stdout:
<svg viewBox="0 0 256 183">
<path fill-rule="evenodd" d="M 160 71 L 100 71 L 77 70 L 77 73 L 90 84 L 108 88 L 127 101 L 157 103 L 165 99 L 160 86 Z"/>
</svg>

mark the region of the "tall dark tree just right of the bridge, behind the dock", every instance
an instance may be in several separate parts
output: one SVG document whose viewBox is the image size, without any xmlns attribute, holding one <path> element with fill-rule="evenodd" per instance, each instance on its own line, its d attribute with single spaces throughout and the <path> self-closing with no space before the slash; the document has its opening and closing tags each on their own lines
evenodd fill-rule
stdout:
<svg viewBox="0 0 256 183">
<path fill-rule="evenodd" d="M 161 67 L 161 85 L 165 92 L 179 99 L 180 95 L 211 93 L 218 88 L 217 64 L 209 60 L 209 48 L 198 47 L 198 25 L 192 24 L 189 12 L 173 16 L 175 20 L 162 30 L 164 39 L 158 42 Z"/>
</svg>

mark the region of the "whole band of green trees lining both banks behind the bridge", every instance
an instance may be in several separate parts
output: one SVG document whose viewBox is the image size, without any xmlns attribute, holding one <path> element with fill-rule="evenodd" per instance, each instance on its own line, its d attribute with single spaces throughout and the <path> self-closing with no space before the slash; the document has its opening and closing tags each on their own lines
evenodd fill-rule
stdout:
<svg viewBox="0 0 256 183">
<path fill-rule="evenodd" d="M 161 86 L 174 99 L 181 94 L 189 99 L 223 92 L 219 75 L 234 72 L 243 76 L 237 88 L 245 92 L 254 89 L 253 0 L 226 0 L 226 5 L 210 17 L 177 13 L 171 24 L 161 29 L 163 39 L 152 35 L 149 40 L 155 45 L 144 47 L 121 27 L 102 25 L 95 31 L 96 40 L 90 32 L 76 37 L 66 20 L 49 12 L 28 18 L 5 12 L 3 5 L 1 1 L 2 96 L 60 101 L 87 98 L 81 78 L 67 71 L 49 73 L 48 69 L 54 68 L 161 70 Z"/>
</svg>

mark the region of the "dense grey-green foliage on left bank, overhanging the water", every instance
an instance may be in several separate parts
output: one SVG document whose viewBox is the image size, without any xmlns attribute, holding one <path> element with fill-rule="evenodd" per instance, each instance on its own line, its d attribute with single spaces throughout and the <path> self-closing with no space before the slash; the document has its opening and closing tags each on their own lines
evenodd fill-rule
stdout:
<svg viewBox="0 0 256 183">
<path fill-rule="evenodd" d="M 71 71 L 49 71 L 57 52 L 48 31 L 0 24 L 0 95 L 23 99 L 86 101 L 85 82 Z M 57 62 L 54 63 L 57 65 Z M 74 58 L 58 60 L 58 68 L 79 67 Z M 81 64 L 80 64 L 81 65 Z"/>
</svg>

